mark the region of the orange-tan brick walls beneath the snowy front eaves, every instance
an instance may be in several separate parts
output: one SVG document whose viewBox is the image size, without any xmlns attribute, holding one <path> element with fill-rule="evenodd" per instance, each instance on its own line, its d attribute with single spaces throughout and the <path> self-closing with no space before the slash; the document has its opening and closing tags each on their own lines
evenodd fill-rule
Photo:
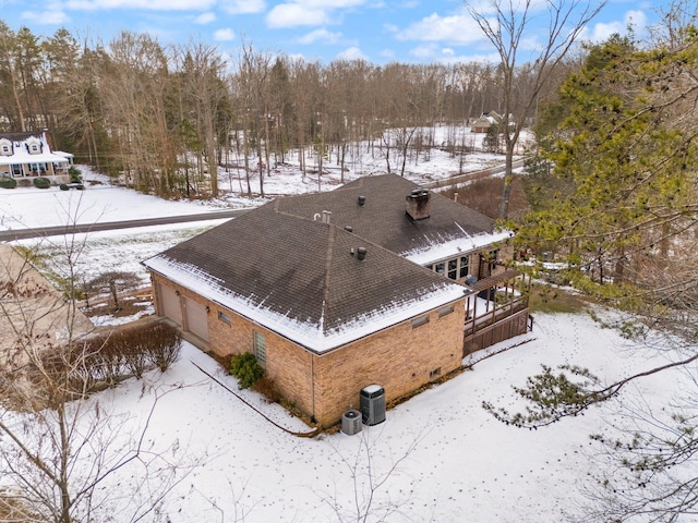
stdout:
<svg viewBox="0 0 698 523">
<path fill-rule="evenodd" d="M 153 275 L 155 282 L 167 281 Z M 286 338 L 250 321 L 172 282 L 167 284 L 208 305 L 208 349 L 220 356 L 253 351 L 253 332 L 264 335 L 266 375 L 280 393 L 324 426 L 333 425 L 353 405 L 371 384 L 385 388 L 386 400 L 405 396 L 424 384 L 458 368 L 462 357 L 465 297 L 452 305 L 454 312 L 440 316 L 434 309 L 429 323 L 412 327 L 412 320 L 368 336 L 323 355 L 313 354 Z M 156 304 L 156 311 L 160 312 Z M 219 319 L 222 312 L 230 321 Z M 227 318 L 226 318 L 227 319 Z M 441 369 L 441 374 L 430 373 Z"/>
</svg>

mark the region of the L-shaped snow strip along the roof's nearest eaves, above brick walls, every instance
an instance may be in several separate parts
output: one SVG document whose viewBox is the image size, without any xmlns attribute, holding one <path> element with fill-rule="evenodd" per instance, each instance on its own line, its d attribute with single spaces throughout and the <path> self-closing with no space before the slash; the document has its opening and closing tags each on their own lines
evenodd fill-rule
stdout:
<svg viewBox="0 0 698 523">
<path fill-rule="evenodd" d="M 462 285 L 444 281 L 443 284 L 434 284 L 421 295 L 416 293 L 413 300 L 387 304 L 381 309 L 360 315 L 339 328 L 323 331 L 322 324 L 299 321 L 264 306 L 263 296 L 245 297 L 233 293 L 226 289 L 218 278 L 191 264 L 181 264 L 158 255 L 146 259 L 143 265 L 318 354 L 433 311 L 470 292 Z"/>
</svg>

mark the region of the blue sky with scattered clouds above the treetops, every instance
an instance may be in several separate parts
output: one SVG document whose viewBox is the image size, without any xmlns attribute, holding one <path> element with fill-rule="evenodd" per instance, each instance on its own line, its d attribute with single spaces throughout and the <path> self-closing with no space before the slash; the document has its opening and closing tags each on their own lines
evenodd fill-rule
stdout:
<svg viewBox="0 0 698 523">
<path fill-rule="evenodd" d="M 585 37 L 599 41 L 626 33 L 629 24 L 642 37 L 657 21 L 657 9 L 667 3 L 610 0 Z M 24 25 L 50 36 L 65 27 L 93 42 L 107 44 L 128 29 L 148 33 L 163 45 L 190 39 L 216 45 L 231 56 L 244 41 L 260 51 L 323 62 L 496 61 L 462 0 L 0 0 L 0 8 L 13 29 Z M 542 26 L 532 25 L 527 35 L 531 46 L 545 28 L 543 13 L 534 19 Z"/>
</svg>

